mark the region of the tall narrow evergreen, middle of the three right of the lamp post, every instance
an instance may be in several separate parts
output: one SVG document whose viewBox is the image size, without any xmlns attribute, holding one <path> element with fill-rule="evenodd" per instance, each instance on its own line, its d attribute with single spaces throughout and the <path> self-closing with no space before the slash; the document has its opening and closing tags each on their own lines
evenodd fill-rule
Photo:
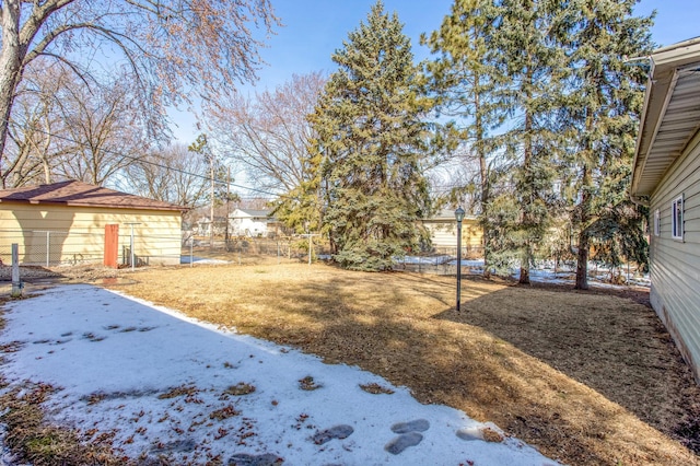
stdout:
<svg viewBox="0 0 700 466">
<path fill-rule="evenodd" d="M 529 283 L 529 266 L 550 226 L 555 160 L 560 148 L 556 128 L 558 98 L 564 92 L 565 50 L 556 32 L 567 19 L 560 2 L 497 0 L 499 22 L 490 43 L 504 85 L 495 90 L 511 120 L 503 133 L 514 162 L 512 193 L 518 214 L 505 224 L 501 251 L 520 256 L 520 282 Z M 512 214 L 505 217 L 513 217 Z M 501 259 L 502 260 L 502 259 Z"/>
</svg>

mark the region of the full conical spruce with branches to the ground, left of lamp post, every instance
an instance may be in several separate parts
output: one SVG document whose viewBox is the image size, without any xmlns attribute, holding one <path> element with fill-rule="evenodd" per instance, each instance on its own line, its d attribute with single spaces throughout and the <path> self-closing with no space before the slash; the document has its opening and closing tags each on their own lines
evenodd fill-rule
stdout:
<svg viewBox="0 0 700 466">
<path fill-rule="evenodd" d="M 332 60 L 339 69 L 311 117 L 328 184 L 324 224 L 342 267 L 387 270 L 419 245 L 417 220 L 429 209 L 422 79 L 402 24 L 381 1 Z"/>
</svg>

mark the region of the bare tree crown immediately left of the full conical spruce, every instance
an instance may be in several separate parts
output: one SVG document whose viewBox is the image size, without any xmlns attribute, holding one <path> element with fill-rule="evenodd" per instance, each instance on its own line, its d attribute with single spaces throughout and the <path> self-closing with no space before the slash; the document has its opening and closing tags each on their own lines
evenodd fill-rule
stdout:
<svg viewBox="0 0 700 466">
<path fill-rule="evenodd" d="M 314 112 L 325 81 L 319 72 L 295 74 L 254 98 L 230 95 L 210 108 L 220 151 L 260 188 L 290 191 L 300 186 L 313 137 L 306 116 Z"/>
</svg>

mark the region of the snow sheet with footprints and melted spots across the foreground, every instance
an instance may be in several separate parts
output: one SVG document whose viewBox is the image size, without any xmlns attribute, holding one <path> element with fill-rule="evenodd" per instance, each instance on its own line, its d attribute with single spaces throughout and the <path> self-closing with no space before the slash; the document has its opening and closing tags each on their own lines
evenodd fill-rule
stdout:
<svg viewBox="0 0 700 466">
<path fill-rule="evenodd" d="M 4 318 L 0 345 L 16 349 L 4 354 L 8 381 L 59 387 L 47 404 L 52 421 L 95 439 L 114 435 L 116 450 L 132 458 L 556 464 L 517 439 L 499 442 L 492 423 L 421 405 L 358 368 L 324 364 L 108 290 L 48 289 L 8 304 Z"/>
</svg>

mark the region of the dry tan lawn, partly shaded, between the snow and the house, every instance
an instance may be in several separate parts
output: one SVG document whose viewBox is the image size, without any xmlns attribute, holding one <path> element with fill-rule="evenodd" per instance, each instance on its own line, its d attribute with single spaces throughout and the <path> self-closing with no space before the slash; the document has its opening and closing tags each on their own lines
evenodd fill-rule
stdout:
<svg viewBox="0 0 700 466">
<path fill-rule="evenodd" d="M 699 464 L 700 389 L 643 293 L 301 264 L 163 268 L 130 294 L 357 364 L 569 464 Z"/>
</svg>

